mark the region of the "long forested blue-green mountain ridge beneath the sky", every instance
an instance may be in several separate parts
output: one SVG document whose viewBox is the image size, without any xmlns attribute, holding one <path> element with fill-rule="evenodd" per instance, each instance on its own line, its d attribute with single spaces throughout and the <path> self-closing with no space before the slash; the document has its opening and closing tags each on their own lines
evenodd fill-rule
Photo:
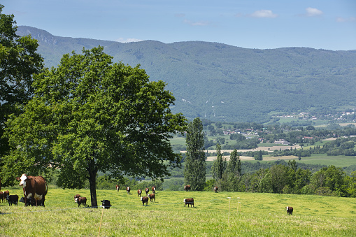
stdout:
<svg viewBox="0 0 356 237">
<path fill-rule="evenodd" d="M 119 43 L 53 36 L 27 26 L 18 27 L 17 34 L 38 40 L 47 67 L 57 66 L 73 50 L 104 46 L 113 62 L 140 64 L 150 80 L 166 82 L 176 98 L 173 113 L 190 120 L 268 122 L 273 112 L 356 106 L 356 50 L 261 50 L 202 41 Z"/>
</svg>

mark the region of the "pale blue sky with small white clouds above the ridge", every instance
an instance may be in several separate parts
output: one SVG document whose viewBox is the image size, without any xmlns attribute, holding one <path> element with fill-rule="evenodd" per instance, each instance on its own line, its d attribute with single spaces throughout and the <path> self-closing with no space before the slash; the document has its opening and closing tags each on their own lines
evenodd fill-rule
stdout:
<svg viewBox="0 0 356 237">
<path fill-rule="evenodd" d="M 55 36 L 242 48 L 356 50 L 356 0 L 3 0 L 17 25 Z"/>
</svg>

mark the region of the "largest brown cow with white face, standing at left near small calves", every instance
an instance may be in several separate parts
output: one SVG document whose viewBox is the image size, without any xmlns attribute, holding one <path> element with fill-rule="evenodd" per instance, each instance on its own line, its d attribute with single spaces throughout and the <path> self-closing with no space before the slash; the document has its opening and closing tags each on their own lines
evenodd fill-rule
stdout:
<svg viewBox="0 0 356 237">
<path fill-rule="evenodd" d="M 41 199 L 43 199 L 43 206 L 45 206 L 44 198 L 48 192 L 48 185 L 42 176 L 22 174 L 21 178 L 17 177 L 16 180 L 20 181 L 20 186 L 24 191 L 24 203 L 27 203 L 27 199 L 32 197 L 36 202 L 36 206 L 38 206 L 38 201 Z"/>
</svg>

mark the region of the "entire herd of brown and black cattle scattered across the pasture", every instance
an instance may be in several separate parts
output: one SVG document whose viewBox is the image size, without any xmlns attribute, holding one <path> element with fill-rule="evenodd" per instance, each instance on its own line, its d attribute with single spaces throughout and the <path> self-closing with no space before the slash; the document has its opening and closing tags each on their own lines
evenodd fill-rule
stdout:
<svg viewBox="0 0 356 237">
<path fill-rule="evenodd" d="M 48 192 L 48 185 L 47 182 L 45 182 L 45 179 L 42 176 L 27 176 L 26 174 L 22 174 L 21 177 L 16 178 L 17 181 L 20 181 L 20 186 L 22 186 L 24 196 L 20 199 L 20 202 L 24 203 L 24 206 L 45 206 L 45 195 Z M 1 181 L 0 181 L 1 185 Z M 1 186 L 0 186 L 1 189 Z M 116 185 L 116 191 L 119 192 L 120 185 Z M 185 192 L 189 192 L 191 189 L 190 185 L 185 185 L 184 190 Z M 142 205 L 148 206 L 148 199 L 150 201 L 155 201 L 156 199 L 156 186 L 151 187 L 152 194 L 149 193 L 148 187 L 145 188 L 145 193 L 147 196 L 141 196 L 142 190 L 138 189 L 137 194 L 138 197 L 141 197 Z M 127 194 L 130 194 L 131 189 L 130 187 L 126 187 L 126 192 Z M 218 187 L 214 187 L 214 192 L 218 192 Z M 2 201 L 8 201 L 8 205 L 12 206 L 13 204 L 17 206 L 19 196 L 17 195 L 10 195 L 10 192 L 7 190 L 4 192 L 0 192 L 0 202 Z M 74 201 L 78 203 L 78 207 L 80 205 L 83 205 L 84 207 L 87 207 L 87 198 L 84 196 L 80 196 L 80 194 L 76 194 L 74 196 Z M 103 200 L 102 202 L 102 207 L 103 208 L 110 208 L 111 204 L 110 201 L 108 200 Z M 184 206 L 188 205 L 190 207 L 194 207 L 194 199 L 184 199 Z M 293 215 L 293 208 L 291 206 L 287 206 L 287 214 L 288 215 Z"/>
</svg>

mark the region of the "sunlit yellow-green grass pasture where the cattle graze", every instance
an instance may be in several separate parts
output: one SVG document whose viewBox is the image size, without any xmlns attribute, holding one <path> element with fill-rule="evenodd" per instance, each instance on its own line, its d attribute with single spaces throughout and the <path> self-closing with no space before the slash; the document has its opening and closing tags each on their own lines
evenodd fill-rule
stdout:
<svg viewBox="0 0 356 237">
<path fill-rule="evenodd" d="M 98 200 L 113 205 L 103 210 L 78 208 L 74 194 L 90 199 L 86 189 L 49 189 L 45 208 L 0 203 L 0 236 L 98 236 L 99 228 L 100 236 L 356 236 L 356 199 L 350 198 L 160 191 L 142 206 L 136 190 L 97 190 Z M 190 197 L 194 208 L 184 207 Z M 292 216 L 285 206 L 293 206 Z"/>
</svg>

